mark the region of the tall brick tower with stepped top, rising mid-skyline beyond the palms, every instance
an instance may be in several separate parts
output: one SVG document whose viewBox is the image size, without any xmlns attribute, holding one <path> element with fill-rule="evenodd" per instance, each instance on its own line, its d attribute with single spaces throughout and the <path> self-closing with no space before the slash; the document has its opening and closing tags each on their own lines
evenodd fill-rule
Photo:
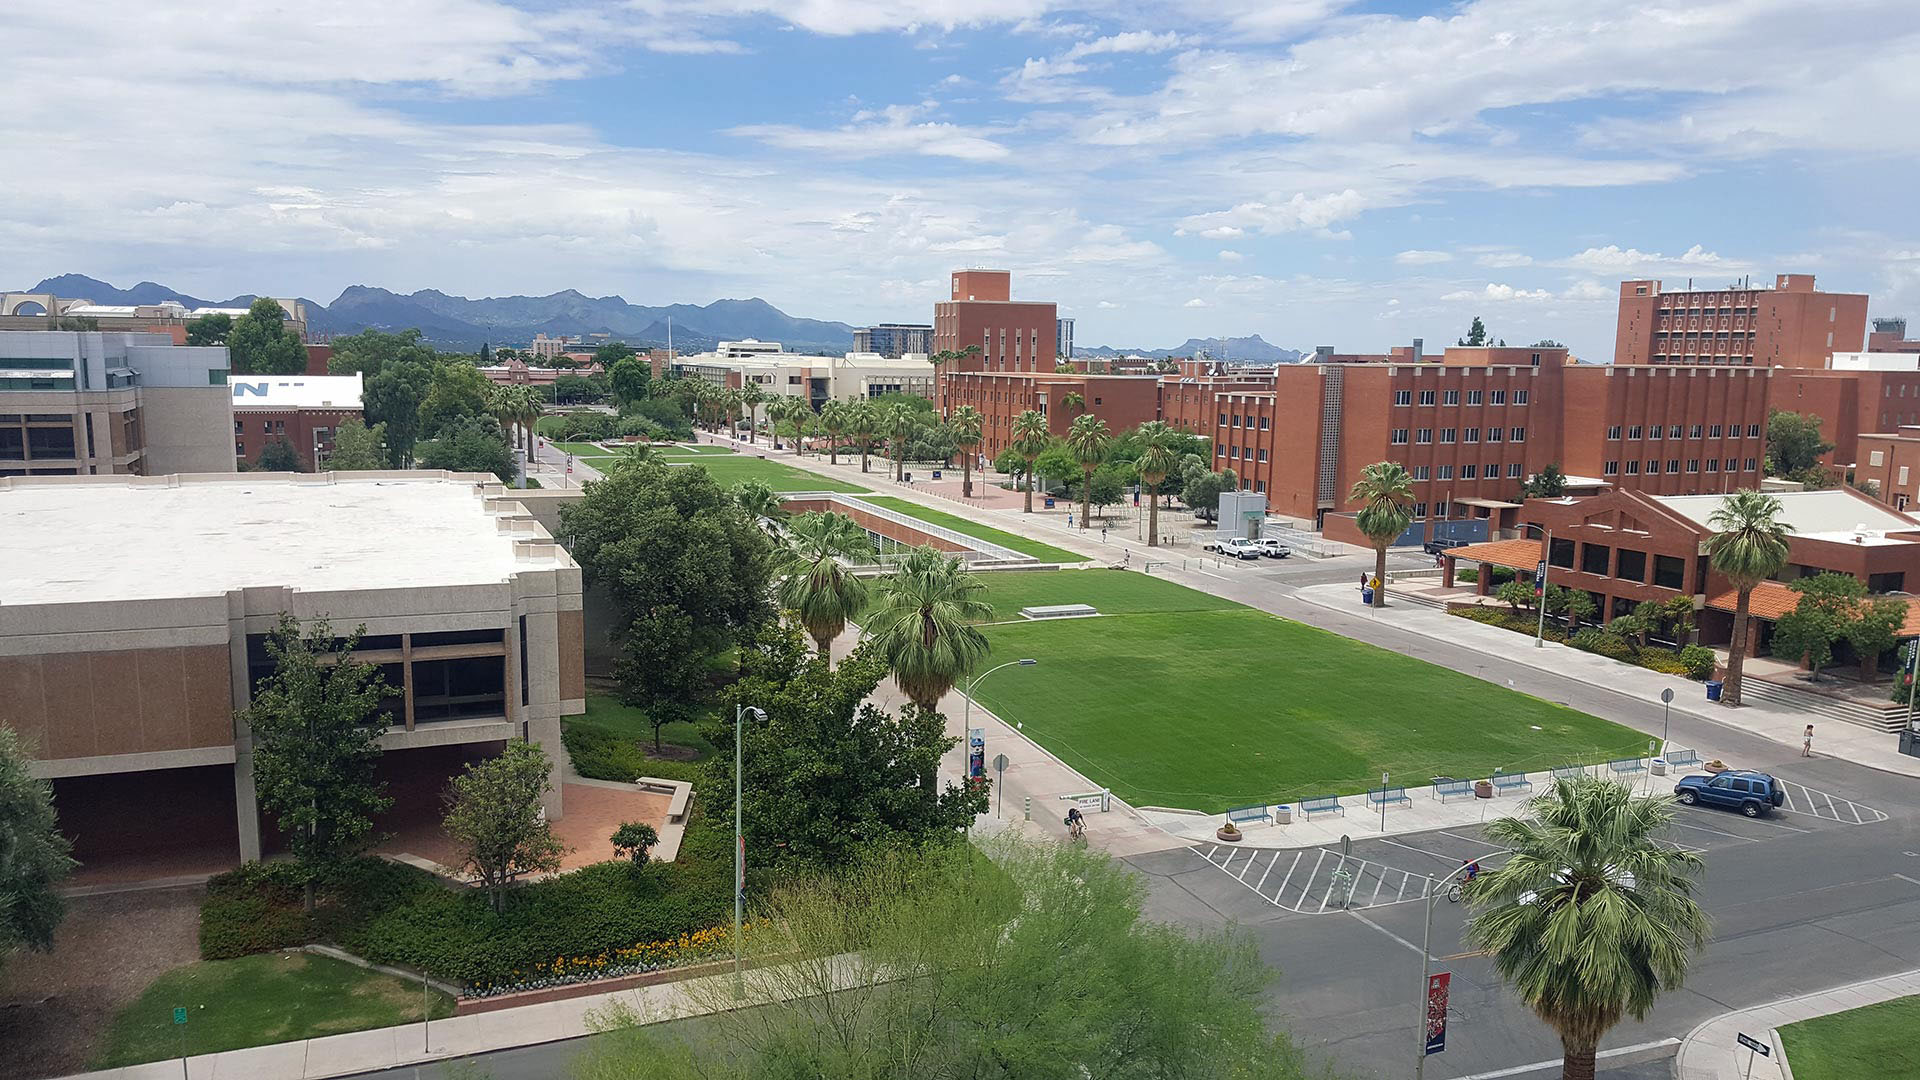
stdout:
<svg viewBox="0 0 1920 1080">
<path fill-rule="evenodd" d="M 943 415 L 950 411 L 947 382 L 960 373 L 1052 373 L 1058 336 L 1058 307 L 1014 300 L 1008 271 L 954 271 L 950 298 L 933 306 L 933 352 L 973 346 L 979 354 L 943 367 L 935 407 Z"/>
</svg>

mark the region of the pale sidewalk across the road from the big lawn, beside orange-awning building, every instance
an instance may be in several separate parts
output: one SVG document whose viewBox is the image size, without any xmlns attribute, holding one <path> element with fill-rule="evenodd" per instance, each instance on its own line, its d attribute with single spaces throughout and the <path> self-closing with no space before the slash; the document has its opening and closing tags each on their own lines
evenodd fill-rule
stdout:
<svg viewBox="0 0 1920 1080">
<path fill-rule="evenodd" d="M 1334 611 L 1361 611 L 1354 594 L 1356 590 L 1350 584 L 1319 584 L 1302 588 L 1296 598 Z M 1676 715 L 1757 734 L 1791 748 L 1799 748 L 1801 732 L 1807 728 L 1809 717 L 1805 713 L 1764 703 L 1749 703 L 1740 709 L 1711 705 L 1707 703 L 1705 686 L 1692 678 L 1661 675 L 1555 642 L 1546 642 L 1536 650 L 1532 638 L 1524 634 L 1448 615 L 1438 607 L 1423 603 L 1394 603 L 1392 590 L 1386 596 L 1386 607 L 1365 609 L 1365 613 L 1400 630 L 1461 644 L 1513 663 L 1576 678 L 1645 701 L 1657 703 L 1661 690 L 1672 688 L 1672 709 Z M 1820 757 L 1837 757 L 1901 776 L 1920 776 L 1920 757 L 1901 753 L 1899 736 L 1828 719 L 1816 719 L 1814 724 L 1814 753 Z M 1703 757 L 1711 755 L 1703 751 Z"/>
</svg>

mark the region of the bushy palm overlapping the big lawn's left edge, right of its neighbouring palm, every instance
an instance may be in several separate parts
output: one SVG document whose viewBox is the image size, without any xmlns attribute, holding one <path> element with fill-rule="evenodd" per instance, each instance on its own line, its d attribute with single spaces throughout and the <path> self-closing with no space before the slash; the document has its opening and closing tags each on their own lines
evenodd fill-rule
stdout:
<svg viewBox="0 0 1920 1080">
<path fill-rule="evenodd" d="M 985 588 L 958 555 L 933 548 L 914 548 L 876 584 L 866 632 L 914 705 L 939 707 L 987 659 L 987 636 L 975 626 L 993 617 L 979 598 Z"/>
</svg>

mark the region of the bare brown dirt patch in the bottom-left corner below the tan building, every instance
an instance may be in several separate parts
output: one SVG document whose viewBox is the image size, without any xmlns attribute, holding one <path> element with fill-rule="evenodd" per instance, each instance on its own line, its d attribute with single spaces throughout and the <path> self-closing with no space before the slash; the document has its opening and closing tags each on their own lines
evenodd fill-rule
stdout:
<svg viewBox="0 0 1920 1080">
<path fill-rule="evenodd" d="M 202 899 L 200 886 L 69 899 L 54 951 L 0 970 L 0 1076 L 84 1070 L 115 1013 L 200 959 Z"/>
</svg>

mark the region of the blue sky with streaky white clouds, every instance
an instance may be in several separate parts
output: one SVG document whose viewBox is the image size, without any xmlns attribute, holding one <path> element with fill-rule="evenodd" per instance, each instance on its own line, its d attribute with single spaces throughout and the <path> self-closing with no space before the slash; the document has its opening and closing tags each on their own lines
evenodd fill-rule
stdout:
<svg viewBox="0 0 1920 1080">
<path fill-rule="evenodd" d="M 217 12 L 217 13 L 215 13 Z M 0 38 L 0 286 L 58 273 L 1609 359 L 1619 282 L 1920 323 L 1914 0 L 173 0 Z"/>
</svg>

